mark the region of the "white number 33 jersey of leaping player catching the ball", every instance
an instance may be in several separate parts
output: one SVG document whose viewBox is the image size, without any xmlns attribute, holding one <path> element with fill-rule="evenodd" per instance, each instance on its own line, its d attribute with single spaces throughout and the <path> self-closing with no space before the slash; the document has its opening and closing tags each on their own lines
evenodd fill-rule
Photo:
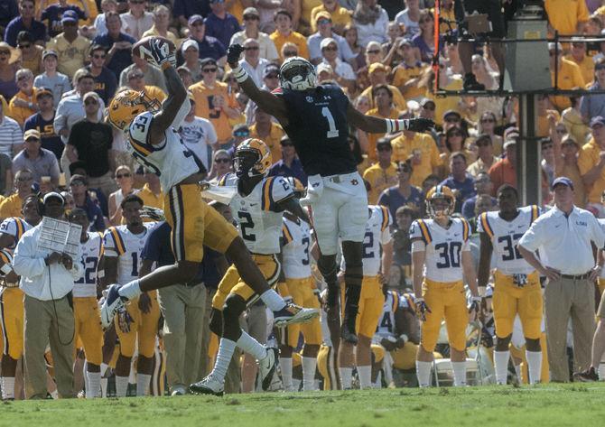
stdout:
<svg viewBox="0 0 605 427">
<path fill-rule="evenodd" d="M 154 120 L 154 113 L 151 111 L 136 116 L 128 128 L 126 151 L 160 177 L 166 192 L 188 176 L 205 171 L 201 160 L 187 148 L 176 131 L 182 119 L 189 113 L 190 107 L 189 100 L 182 104 L 172 126 L 164 132 L 162 144 L 153 145 L 149 142 L 149 131 Z"/>
</svg>

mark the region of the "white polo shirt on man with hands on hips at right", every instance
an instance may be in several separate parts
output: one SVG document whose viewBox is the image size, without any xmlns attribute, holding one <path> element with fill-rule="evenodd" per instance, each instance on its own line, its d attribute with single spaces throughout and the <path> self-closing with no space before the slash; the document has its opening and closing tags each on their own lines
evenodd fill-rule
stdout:
<svg viewBox="0 0 605 427">
<path fill-rule="evenodd" d="M 538 217 L 519 245 L 539 250 L 542 265 L 561 274 L 585 274 L 595 265 L 591 242 L 605 246 L 605 232 L 588 210 L 573 207 L 568 217 L 556 206 Z"/>
</svg>

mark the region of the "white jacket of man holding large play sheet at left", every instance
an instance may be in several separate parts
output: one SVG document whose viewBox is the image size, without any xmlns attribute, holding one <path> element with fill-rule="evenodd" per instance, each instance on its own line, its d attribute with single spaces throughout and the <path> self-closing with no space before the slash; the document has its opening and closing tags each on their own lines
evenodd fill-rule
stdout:
<svg viewBox="0 0 605 427">
<path fill-rule="evenodd" d="M 80 262 L 81 249 L 78 247 L 71 270 L 59 263 L 46 265 L 44 257 L 51 253 L 38 248 L 41 229 L 42 223 L 26 231 L 17 243 L 13 259 L 14 273 L 21 276 L 19 287 L 26 295 L 41 301 L 60 300 L 71 292 L 74 281 L 84 274 L 84 266 Z"/>
</svg>

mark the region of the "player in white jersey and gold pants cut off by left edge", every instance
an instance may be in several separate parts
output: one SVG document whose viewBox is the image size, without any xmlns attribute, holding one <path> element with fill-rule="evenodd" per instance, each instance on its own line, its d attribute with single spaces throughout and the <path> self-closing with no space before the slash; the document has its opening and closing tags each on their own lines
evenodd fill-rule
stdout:
<svg viewBox="0 0 605 427">
<path fill-rule="evenodd" d="M 14 399 L 14 375 L 23 356 L 23 291 L 14 274 L 13 251 L 25 231 L 42 219 L 42 202 L 36 196 L 23 200 L 23 218 L 6 218 L 0 225 L 0 327 L 2 328 L 2 399 Z"/>
</svg>

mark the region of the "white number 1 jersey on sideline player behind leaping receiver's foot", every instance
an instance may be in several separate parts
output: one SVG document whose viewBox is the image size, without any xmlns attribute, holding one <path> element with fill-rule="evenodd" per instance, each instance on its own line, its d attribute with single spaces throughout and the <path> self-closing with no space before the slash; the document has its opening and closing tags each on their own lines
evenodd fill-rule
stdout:
<svg viewBox="0 0 605 427">
<path fill-rule="evenodd" d="M 103 244 L 107 258 L 117 257 L 117 283 L 125 284 L 139 278 L 141 253 L 149 229 L 154 222 L 144 222 L 144 232 L 133 234 L 126 226 L 109 227 L 105 230 Z"/>
</svg>

